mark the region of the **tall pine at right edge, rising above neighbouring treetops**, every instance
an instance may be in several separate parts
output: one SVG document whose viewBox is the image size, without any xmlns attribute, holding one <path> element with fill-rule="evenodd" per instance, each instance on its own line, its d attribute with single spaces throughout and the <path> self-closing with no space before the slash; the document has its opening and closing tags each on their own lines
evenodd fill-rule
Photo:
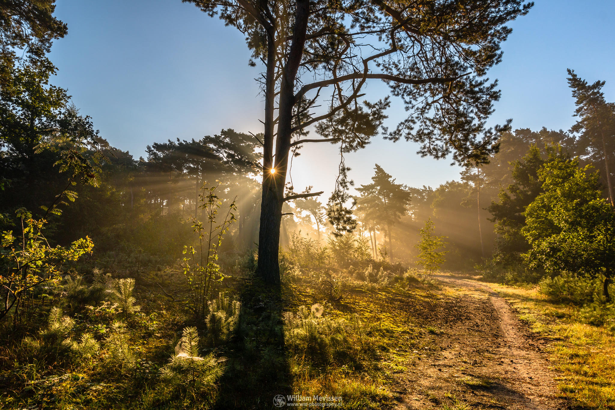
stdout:
<svg viewBox="0 0 615 410">
<path fill-rule="evenodd" d="M 608 198 L 615 206 L 613 191 L 613 158 L 615 156 L 615 103 L 607 103 L 601 91 L 604 81 L 588 84 L 568 69 L 568 85 L 573 90 L 577 109 L 574 116 L 579 117 L 571 132 L 579 132 L 579 146 L 592 162 L 603 165 Z"/>
</svg>

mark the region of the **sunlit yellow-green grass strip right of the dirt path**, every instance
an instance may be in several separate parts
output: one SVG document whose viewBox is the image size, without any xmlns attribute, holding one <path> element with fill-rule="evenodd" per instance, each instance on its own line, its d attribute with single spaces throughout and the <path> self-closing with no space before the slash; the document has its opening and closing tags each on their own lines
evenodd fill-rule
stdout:
<svg viewBox="0 0 615 410">
<path fill-rule="evenodd" d="M 615 337 L 609 325 L 581 323 L 575 307 L 549 301 L 536 287 L 489 285 L 534 332 L 552 341 L 550 361 L 563 397 L 579 408 L 615 408 Z"/>
</svg>

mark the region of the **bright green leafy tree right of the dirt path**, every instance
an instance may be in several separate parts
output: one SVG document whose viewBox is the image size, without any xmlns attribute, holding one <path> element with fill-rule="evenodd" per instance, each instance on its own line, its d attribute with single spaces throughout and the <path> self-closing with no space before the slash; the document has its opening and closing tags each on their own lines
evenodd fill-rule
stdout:
<svg viewBox="0 0 615 410">
<path fill-rule="evenodd" d="M 615 213 L 602 198 L 600 176 L 578 159 L 556 158 L 538 171 L 542 193 L 523 215 L 523 236 L 531 245 L 523 256 L 533 268 L 605 275 L 603 292 L 615 272 Z"/>
</svg>

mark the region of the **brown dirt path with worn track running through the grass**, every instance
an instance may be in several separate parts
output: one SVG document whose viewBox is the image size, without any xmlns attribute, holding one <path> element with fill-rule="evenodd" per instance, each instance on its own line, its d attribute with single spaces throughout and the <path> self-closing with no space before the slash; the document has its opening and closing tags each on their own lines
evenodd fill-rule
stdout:
<svg viewBox="0 0 615 410">
<path fill-rule="evenodd" d="M 544 342 L 507 302 L 483 283 L 438 279 L 461 296 L 400 377 L 398 409 L 565 409 Z"/>
</svg>

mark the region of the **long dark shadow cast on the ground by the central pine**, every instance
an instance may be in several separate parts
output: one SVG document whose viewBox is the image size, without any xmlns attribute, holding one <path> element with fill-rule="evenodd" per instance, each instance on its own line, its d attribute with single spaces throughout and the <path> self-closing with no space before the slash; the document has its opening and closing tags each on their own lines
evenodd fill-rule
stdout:
<svg viewBox="0 0 615 410">
<path fill-rule="evenodd" d="M 224 350 L 226 369 L 215 409 L 267 409 L 276 395 L 290 395 L 292 376 L 285 349 L 279 288 L 248 278 L 240 289 L 236 336 Z"/>
</svg>

